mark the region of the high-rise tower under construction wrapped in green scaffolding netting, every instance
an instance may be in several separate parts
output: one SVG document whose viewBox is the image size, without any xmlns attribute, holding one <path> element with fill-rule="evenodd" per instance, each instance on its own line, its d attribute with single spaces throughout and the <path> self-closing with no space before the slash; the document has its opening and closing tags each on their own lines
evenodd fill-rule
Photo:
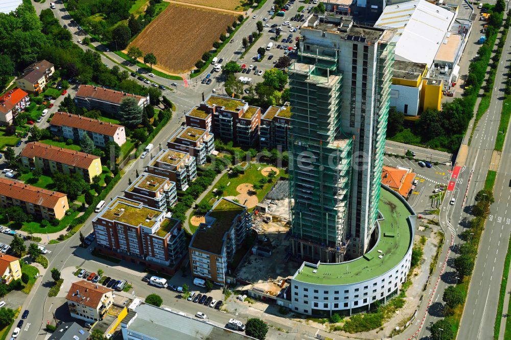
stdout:
<svg viewBox="0 0 511 340">
<path fill-rule="evenodd" d="M 292 251 L 363 255 L 377 237 L 394 31 L 314 14 L 289 67 Z"/>
</svg>

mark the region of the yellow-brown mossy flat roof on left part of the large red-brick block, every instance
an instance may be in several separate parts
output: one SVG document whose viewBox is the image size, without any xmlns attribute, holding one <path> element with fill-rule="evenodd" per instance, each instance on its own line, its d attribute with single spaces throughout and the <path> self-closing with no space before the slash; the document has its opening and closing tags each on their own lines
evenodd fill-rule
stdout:
<svg viewBox="0 0 511 340">
<path fill-rule="evenodd" d="M 140 202 L 117 197 L 98 218 L 117 221 L 130 226 L 152 228 L 157 218 L 164 213 L 162 210 L 150 208 Z"/>
</svg>

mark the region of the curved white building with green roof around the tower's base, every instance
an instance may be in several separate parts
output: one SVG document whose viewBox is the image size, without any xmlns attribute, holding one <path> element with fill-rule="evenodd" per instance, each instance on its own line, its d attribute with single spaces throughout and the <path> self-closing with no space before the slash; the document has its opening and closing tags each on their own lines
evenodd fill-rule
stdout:
<svg viewBox="0 0 511 340">
<path fill-rule="evenodd" d="M 410 270 L 416 215 L 386 186 L 378 208 L 375 246 L 352 261 L 304 262 L 291 279 L 291 310 L 323 317 L 351 315 L 399 293 Z"/>
</svg>

